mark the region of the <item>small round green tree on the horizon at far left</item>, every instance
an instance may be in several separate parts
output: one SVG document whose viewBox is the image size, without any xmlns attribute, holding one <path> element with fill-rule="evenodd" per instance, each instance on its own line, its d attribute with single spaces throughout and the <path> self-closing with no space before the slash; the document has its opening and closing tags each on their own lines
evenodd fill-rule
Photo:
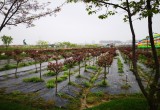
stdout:
<svg viewBox="0 0 160 110">
<path fill-rule="evenodd" d="M 9 47 L 9 44 L 12 43 L 13 38 L 12 38 L 11 36 L 5 36 L 5 35 L 3 35 L 3 36 L 1 37 L 1 40 L 2 40 L 2 42 L 3 42 L 3 44 L 5 45 L 6 50 L 7 50 L 7 48 Z"/>
</svg>

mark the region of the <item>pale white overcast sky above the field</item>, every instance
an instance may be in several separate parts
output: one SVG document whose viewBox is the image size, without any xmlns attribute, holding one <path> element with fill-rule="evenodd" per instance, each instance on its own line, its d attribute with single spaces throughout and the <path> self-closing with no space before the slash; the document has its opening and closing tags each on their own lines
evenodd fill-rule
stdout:
<svg viewBox="0 0 160 110">
<path fill-rule="evenodd" d="M 55 0 L 55 2 L 58 0 Z M 52 4 L 56 7 L 62 2 Z M 98 14 L 88 15 L 83 3 L 66 4 L 56 17 L 48 16 L 35 21 L 35 27 L 26 28 L 24 25 L 4 28 L 0 33 L 13 37 L 12 44 L 36 44 L 38 40 L 49 43 L 69 41 L 72 43 L 99 43 L 100 40 L 131 40 L 128 23 L 123 22 L 123 14 L 117 14 L 105 20 L 98 19 Z M 153 19 L 153 31 L 160 33 L 160 15 Z M 148 35 L 147 20 L 135 20 L 137 39 Z M 2 42 L 0 41 L 0 45 Z"/>
</svg>

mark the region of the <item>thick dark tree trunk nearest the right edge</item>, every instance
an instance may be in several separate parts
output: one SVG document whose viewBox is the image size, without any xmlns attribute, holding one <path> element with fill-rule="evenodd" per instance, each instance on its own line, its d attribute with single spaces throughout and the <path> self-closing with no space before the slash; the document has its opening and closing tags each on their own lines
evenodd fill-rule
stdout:
<svg viewBox="0 0 160 110">
<path fill-rule="evenodd" d="M 157 56 L 157 51 L 154 45 L 154 38 L 153 38 L 153 31 L 152 31 L 152 7 L 151 7 L 151 0 L 147 0 L 147 10 L 148 10 L 148 31 L 149 31 L 149 37 L 150 37 L 150 43 L 151 43 L 151 49 L 154 59 L 154 66 L 155 66 L 155 76 L 153 79 L 153 82 L 150 85 L 149 90 L 149 100 L 148 103 L 150 105 L 150 110 L 157 110 L 158 109 L 158 101 L 156 97 L 156 87 L 158 86 L 158 80 L 160 78 L 160 71 L 159 71 L 159 61 Z"/>
</svg>

